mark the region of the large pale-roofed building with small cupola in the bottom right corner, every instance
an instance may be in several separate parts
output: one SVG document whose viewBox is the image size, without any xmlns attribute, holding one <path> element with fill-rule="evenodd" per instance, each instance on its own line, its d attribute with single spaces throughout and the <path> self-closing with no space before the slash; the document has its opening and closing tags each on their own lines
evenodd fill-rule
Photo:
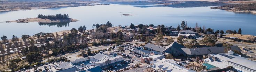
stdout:
<svg viewBox="0 0 256 72">
<path fill-rule="evenodd" d="M 209 70 L 223 69 L 232 66 L 238 72 L 256 72 L 256 62 L 234 54 L 233 51 L 220 54 L 209 54 L 203 65 Z"/>
</svg>

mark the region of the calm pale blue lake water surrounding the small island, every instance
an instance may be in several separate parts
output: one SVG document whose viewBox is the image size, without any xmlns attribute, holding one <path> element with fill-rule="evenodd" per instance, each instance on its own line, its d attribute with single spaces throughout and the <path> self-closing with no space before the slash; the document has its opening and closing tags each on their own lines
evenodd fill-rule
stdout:
<svg viewBox="0 0 256 72">
<path fill-rule="evenodd" d="M 0 23 L 0 36 L 6 35 L 8 39 L 12 35 L 21 37 L 23 34 L 34 35 L 39 32 L 57 32 L 70 30 L 85 25 L 87 29 L 92 29 L 92 24 L 106 24 L 110 21 L 113 26 L 130 26 L 137 24 L 164 24 L 166 26 L 177 27 L 181 21 L 187 21 L 189 27 L 205 25 L 206 28 L 214 30 L 238 30 L 242 29 L 242 34 L 256 35 L 256 15 L 237 14 L 223 10 L 210 9 L 209 7 L 172 8 L 172 7 L 134 7 L 130 5 L 99 5 L 64 7 L 53 9 L 37 9 L 25 11 L 1 12 L 0 22 L 11 21 L 24 18 L 37 17 L 38 14 L 55 15 L 69 14 L 70 18 L 78 19 L 78 22 L 69 24 L 39 24 L 32 23 Z M 123 16 L 122 14 L 134 14 L 137 16 Z"/>
</svg>

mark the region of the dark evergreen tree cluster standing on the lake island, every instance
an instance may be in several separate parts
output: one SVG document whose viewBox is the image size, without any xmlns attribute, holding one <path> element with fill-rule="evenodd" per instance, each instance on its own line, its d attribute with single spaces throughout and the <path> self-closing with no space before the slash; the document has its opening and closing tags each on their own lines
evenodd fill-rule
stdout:
<svg viewBox="0 0 256 72">
<path fill-rule="evenodd" d="M 39 14 L 37 18 L 42 18 L 42 19 L 68 19 L 69 15 L 68 14 L 56 14 L 56 15 L 42 15 Z"/>
</svg>

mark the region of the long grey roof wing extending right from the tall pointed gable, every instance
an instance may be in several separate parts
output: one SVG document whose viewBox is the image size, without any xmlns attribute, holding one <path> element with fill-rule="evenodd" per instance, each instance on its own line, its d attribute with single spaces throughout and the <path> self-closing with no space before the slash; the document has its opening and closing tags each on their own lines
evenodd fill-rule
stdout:
<svg viewBox="0 0 256 72">
<path fill-rule="evenodd" d="M 231 50 L 238 50 L 241 49 L 238 46 L 230 46 Z M 202 47 L 202 48 L 181 48 L 186 54 L 188 55 L 207 55 L 207 54 L 218 54 L 218 53 L 225 53 L 225 47 Z"/>
</svg>

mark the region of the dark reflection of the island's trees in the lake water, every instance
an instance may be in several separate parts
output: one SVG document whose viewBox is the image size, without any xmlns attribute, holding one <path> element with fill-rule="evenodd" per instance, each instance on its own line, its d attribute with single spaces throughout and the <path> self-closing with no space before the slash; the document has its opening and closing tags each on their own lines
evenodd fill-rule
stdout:
<svg viewBox="0 0 256 72">
<path fill-rule="evenodd" d="M 69 26 L 69 22 L 51 22 L 51 23 L 38 23 L 40 26 L 42 26 L 42 25 L 48 25 L 49 27 L 50 26 L 56 26 L 57 25 L 57 27 L 67 27 L 67 26 Z"/>
</svg>

